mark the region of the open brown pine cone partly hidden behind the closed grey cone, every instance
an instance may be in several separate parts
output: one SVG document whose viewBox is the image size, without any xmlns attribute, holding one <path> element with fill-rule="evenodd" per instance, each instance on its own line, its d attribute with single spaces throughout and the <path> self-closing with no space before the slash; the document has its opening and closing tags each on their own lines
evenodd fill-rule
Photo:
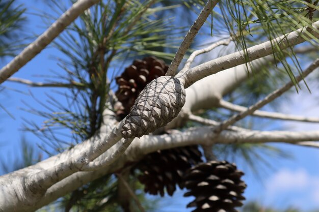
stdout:
<svg viewBox="0 0 319 212">
<path fill-rule="evenodd" d="M 153 79 L 164 76 L 168 66 L 162 59 L 145 57 L 135 59 L 120 77 L 116 78 L 119 89 L 115 93 L 122 106 L 117 108 L 117 115 L 124 118 L 144 87 Z"/>
</svg>

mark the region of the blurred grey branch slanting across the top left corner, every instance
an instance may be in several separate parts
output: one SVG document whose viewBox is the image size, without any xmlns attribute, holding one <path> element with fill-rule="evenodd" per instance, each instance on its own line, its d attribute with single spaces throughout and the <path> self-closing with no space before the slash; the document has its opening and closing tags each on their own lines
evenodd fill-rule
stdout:
<svg viewBox="0 0 319 212">
<path fill-rule="evenodd" d="M 81 15 L 86 9 L 96 4 L 100 0 L 79 0 L 70 9 L 63 13 L 46 31 L 34 42 L 11 60 L 0 70 L 0 84 L 17 72 L 21 67 L 34 58 L 42 49 L 52 42 L 60 33 L 70 25 L 75 18 Z"/>
</svg>

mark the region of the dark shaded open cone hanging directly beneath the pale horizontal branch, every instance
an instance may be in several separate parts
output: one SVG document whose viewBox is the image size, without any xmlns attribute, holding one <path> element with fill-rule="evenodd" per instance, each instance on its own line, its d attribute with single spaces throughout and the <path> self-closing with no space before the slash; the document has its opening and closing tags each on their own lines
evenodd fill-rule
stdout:
<svg viewBox="0 0 319 212">
<path fill-rule="evenodd" d="M 145 185 L 144 191 L 163 197 L 164 189 L 172 196 L 176 184 L 182 189 L 184 173 L 193 165 L 202 162 L 198 146 L 185 146 L 148 154 L 141 160 L 137 168 L 142 175 L 138 179 Z"/>
</svg>

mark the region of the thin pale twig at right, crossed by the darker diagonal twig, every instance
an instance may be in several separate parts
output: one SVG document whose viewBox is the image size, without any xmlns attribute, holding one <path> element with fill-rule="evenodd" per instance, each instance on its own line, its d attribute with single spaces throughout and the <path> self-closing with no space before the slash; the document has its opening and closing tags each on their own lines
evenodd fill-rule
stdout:
<svg viewBox="0 0 319 212">
<path fill-rule="evenodd" d="M 237 111 L 243 112 L 247 110 L 247 107 L 243 107 L 240 105 L 233 104 L 231 102 L 227 102 L 223 99 L 219 102 L 220 107 Z M 255 110 L 251 115 L 264 117 L 264 118 L 273 118 L 273 119 L 281 119 L 281 120 L 293 120 L 297 122 L 312 122 L 312 123 L 319 123 L 319 118 L 317 117 L 305 117 L 300 115 L 289 115 L 284 113 L 277 113 L 277 112 L 268 112 L 262 110 Z"/>
</svg>

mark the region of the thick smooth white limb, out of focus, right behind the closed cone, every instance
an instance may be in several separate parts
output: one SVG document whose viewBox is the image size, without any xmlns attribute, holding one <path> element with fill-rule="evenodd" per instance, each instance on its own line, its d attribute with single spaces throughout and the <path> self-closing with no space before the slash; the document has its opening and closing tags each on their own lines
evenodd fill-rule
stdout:
<svg viewBox="0 0 319 212">
<path fill-rule="evenodd" d="M 315 50 L 316 48 L 313 47 L 299 47 L 294 49 L 294 52 L 307 53 Z M 258 74 L 261 67 L 271 66 L 275 62 L 274 56 L 268 55 L 255 59 L 247 65 L 236 66 L 217 74 L 209 75 L 195 82 L 186 89 L 186 102 L 181 112 L 166 128 L 171 129 L 174 128 L 174 126 L 178 126 L 178 123 L 182 122 L 190 111 L 219 107 L 219 101 L 224 95 L 235 89 L 245 81 L 249 75 Z M 203 87 L 209 92 L 202 92 Z"/>
</svg>

